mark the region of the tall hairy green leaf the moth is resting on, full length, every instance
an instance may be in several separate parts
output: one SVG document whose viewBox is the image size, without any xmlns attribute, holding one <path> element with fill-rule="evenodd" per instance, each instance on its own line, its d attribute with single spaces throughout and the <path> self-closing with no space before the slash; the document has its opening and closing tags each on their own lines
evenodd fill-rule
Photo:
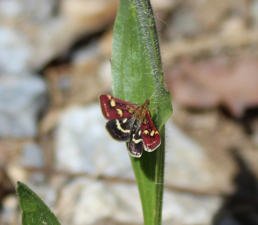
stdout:
<svg viewBox="0 0 258 225">
<path fill-rule="evenodd" d="M 163 85 L 163 70 L 154 14 L 149 0 L 120 0 L 111 58 L 113 95 L 142 104 L 151 98 L 152 120 L 162 144 L 153 152 L 131 157 L 141 196 L 144 224 L 161 224 L 164 183 L 164 124 L 173 111 Z"/>
</svg>

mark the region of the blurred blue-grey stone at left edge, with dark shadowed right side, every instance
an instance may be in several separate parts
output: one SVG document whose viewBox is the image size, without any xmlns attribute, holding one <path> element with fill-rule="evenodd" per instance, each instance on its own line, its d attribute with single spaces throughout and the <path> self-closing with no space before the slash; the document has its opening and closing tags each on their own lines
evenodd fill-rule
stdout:
<svg viewBox="0 0 258 225">
<path fill-rule="evenodd" d="M 46 107 L 46 95 L 46 83 L 38 76 L 0 76 L 0 136 L 36 137 L 37 116 Z"/>
</svg>

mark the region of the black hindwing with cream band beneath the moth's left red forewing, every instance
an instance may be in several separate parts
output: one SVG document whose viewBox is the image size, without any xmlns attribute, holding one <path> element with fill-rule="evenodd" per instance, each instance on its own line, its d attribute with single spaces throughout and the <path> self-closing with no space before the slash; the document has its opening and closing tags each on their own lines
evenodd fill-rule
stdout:
<svg viewBox="0 0 258 225">
<path fill-rule="evenodd" d="M 109 120 L 106 124 L 107 131 L 117 141 L 127 142 L 135 122 L 134 117 Z"/>
</svg>

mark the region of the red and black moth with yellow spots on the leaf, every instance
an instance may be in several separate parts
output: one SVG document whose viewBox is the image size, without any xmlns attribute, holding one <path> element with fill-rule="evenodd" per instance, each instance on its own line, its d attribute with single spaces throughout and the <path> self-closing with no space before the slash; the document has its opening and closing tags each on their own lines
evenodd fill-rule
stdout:
<svg viewBox="0 0 258 225">
<path fill-rule="evenodd" d="M 108 119 L 107 131 L 118 142 L 129 142 L 127 150 L 131 156 L 139 158 L 143 149 L 151 152 L 160 146 L 159 132 L 150 117 L 149 99 L 137 106 L 103 94 L 99 101 L 103 116 Z"/>
</svg>

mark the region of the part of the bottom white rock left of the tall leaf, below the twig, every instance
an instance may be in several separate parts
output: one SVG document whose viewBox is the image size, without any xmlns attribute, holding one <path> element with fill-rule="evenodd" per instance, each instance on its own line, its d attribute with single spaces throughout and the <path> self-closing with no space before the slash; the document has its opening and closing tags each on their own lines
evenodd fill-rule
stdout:
<svg viewBox="0 0 258 225">
<path fill-rule="evenodd" d="M 143 222 L 136 184 L 77 178 L 63 188 L 55 211 L 60 214 L 62 224 L 65 221 L 74 225 L 93 224 L 102 218 L 127 223 Z"/>
</svg>

